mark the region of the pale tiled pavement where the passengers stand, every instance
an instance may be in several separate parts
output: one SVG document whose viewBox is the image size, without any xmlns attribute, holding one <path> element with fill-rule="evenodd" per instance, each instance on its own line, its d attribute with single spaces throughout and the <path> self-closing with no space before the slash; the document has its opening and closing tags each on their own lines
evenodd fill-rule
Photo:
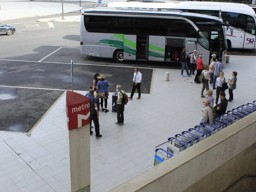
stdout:
<svg viewBox="0 0 256 192">
<path fill-rule="evenodd" d="M 256 100 L 255 59 L 231 55 L 230 64 L 224 65 L 227 79 L 233 70 L 238 72 L 228 110 Z M 170 81 L 164 81 L 165 72 L 170 73 Z M 186 76 L 181 78 L 180 70 L 156 69 L 152 95 L 143 94 L 140 100 L 128 102 L 123 126 L 115 125 L 116 113 L 100 112 L 102 138 L 96 140 L 95 134 L 90 137 L 91 192 L 105 192 L 150 169 L 155 145 L 198 125 L 204 101 L 200 98 L 202 85 L 186 79 L 193 82 Z M 111 99 L 108 106 L 111 109 Z M 70 192 L 69 183 L 63 95 L 31 135 L 0 132 L 0 192 Z"/>
</svg>

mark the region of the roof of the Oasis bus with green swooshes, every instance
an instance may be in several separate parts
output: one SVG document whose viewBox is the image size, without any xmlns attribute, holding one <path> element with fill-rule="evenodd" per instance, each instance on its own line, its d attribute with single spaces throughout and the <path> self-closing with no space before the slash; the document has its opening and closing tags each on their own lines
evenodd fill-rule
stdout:
<svg viewBox="0 0 256 192">
<path fill-rule="evenodd" d="M 112 12 L 114 14 L 119 13 L 141 13 L 143 15 L 157 15 L 157 16 L 173 16 L 173 17 L 198 17 L 198 18 L 204 18 L 207 20 L 212 20 L 215 22 L 219 22 L 219 23 L 223 23 L 223 20 L 221 18 L 215 17 L 215 16 L 211 16 L 211 15 L 203 15 L 203 14 L 197 14 L 197 13 L 188 13 L 188 12 L 170 12 L 170 11 L 150 11 L 150 10 L 134 10 L 132 8 L 125 8 L 125 9 L 120 9 L 120 8 L 110 8 L 110 7 L 96 7 L 96 8 L 90 8 L 90 9 L 84 9 L 83 13 L 98 13 L 100 15 L 100 13 L 102 12 Z"/>
</svg>

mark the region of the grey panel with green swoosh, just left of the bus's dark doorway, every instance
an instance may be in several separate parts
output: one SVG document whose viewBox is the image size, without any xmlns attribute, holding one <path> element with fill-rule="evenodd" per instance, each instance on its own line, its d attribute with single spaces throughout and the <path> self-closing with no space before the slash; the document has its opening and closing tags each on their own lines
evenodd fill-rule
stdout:
<svg viewBox="0 0 256 192">
<path fill-rule="evenodd" d="M 124 35 L 124 60 L 136 60 L 136 35 Z"/>
</svg>

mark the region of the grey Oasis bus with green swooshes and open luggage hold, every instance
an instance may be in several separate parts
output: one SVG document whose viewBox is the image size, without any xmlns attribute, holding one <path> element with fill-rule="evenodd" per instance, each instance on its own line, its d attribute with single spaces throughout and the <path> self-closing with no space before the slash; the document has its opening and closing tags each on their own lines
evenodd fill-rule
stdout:
<svg viewBox="0 0 256 192">
<path fill-rule="evenodd" d="M 157 9 L 95 8 L 81 16 L 81 54 L 139 61 L 177 61 L 182 47 L 205 63 L 227 50 L 225 23 L 214 16 Z"/>
</svg>

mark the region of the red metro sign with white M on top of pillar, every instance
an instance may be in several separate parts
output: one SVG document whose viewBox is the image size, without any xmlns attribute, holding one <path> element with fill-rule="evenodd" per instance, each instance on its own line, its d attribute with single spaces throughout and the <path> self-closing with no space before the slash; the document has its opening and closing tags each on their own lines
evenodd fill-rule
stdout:
<svg viewBox="0 0 256 192">
<path fill-rule="evenodd" d="M 90 99 L 86 96 L 68 90 L 66 108 L 68 130 L 90 124 Z"/>
</svg>

